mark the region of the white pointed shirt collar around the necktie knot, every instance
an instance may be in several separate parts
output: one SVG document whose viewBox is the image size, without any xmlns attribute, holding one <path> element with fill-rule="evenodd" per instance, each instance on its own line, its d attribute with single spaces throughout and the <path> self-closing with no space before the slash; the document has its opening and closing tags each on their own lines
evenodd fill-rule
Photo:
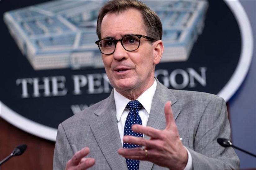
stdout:
<svg viewBox="0 0 256 170">
<path fill-rule="evenodd" d="M 144 93 L 142 93 L 137 100 L 142 104 L 147 113 L 150 113 L 152 100 L 156 90 L 156 80 L 154 79 L 153 85 L 150 86 Z M 122 94 L 118 93 L 116 89 L 114 89 L 114 98 L 115 98 L 115 110 L 116 110 L 116 118 L 119 122 L 121 119 L 121 115 L 124 112 L 124 109 L 128 102 L 131 100 L 124 97 Z"/>
</svg>

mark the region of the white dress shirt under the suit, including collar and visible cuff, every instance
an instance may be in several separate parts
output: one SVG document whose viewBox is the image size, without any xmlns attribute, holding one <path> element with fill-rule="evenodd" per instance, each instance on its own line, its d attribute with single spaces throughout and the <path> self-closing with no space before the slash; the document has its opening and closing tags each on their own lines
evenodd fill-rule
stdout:
<svg viewBox="0 0 256 170">
<path fill-rule="evenodd" d="M 154 83 L 150 88 L 148 88 L 143 94 L 141 94 L 137 100 L 142 104 L 141 110 L 139 110 L 139 115 L 141 117 L 142 126 L 147 125 L 148 116 L 151 109 L 152 100 L 155 94 L 156 90 L 156 80 L 154 80 Z M 119 130 L 120 139 L 122 142 L 122 145 L 124 144 L 123 138 L 124 138 L 124 124 L 126 117 L 128 116 L 129 110 L 126 108 L 126 105 L 131 100 L 124 97 L 120 93 L 114 89 L 114 98 L 115 98 L 115 110 L 116 110 L 116 119 L 117 119 L 117 125 Z M 143 134 L 144 137 L 144 134 Z M 186 148 L 186 147 L 185 147 Z M 187 150 L 187 148 L 186 148 Z M 188 162 L 185 167 L 185 170 L 192 169 L 192 158 L 189 150 L 187 150 L 188 153 Z"/>
</svg>

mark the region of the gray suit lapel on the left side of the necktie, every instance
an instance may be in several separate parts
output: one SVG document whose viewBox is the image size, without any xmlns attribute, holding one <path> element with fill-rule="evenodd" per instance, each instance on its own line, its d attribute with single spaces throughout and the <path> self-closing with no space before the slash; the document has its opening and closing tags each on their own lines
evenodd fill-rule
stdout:
<svg viewBox="0 0 256 170">
<path fill-rule="evenodd" d="M 125 158 L 117 153 L 117 150 L 122 148 L 122 143 L 117 126 L 113 91 L 95 114 L 98 117 L 90 127 L 111 169 L 127 169 Z"/>
</svg>

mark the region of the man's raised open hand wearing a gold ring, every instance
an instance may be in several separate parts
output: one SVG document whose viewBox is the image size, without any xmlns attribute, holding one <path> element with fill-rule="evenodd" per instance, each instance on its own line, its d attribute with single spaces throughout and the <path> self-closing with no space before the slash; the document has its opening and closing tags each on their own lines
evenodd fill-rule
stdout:
<svg viewBox="0 0 256 170">
<path fill-rule="evenodd" d="M 128 159 L 146 160 L 169 169 L 184 169 L 188 160 L 186 148 L 182 145 L 177 126 L 174 122 L 171 102 L 164 106 L 166 128 L 164 130 L 133 125 L 132 131 L 150 136 L 150 140 L 141 137 L 124 136 L 125 143 L 141 145 L 142 148 L 120 148 L 118 153 Z"/>
</svg>

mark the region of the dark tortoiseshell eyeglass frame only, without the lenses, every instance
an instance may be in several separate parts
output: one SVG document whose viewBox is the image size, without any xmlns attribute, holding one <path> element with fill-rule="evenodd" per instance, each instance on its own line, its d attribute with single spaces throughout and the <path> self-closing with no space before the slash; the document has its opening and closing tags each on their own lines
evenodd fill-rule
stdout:
<svg viewBox="0 0 256 170">
<path fill-rule="evenodd" d="M 145 36 L 145 35 L 141 35 L 141 34 L 129 34 L 129 35 L 125 35 L 123 38 L 118 39 L 118 40 L 115 40 L 115 39 L 113 39 L 113 38 L 103 38 L 103 39 L 101 39 L 101 40 L 95 41 L 95 44 L 98 45 L 98 47 L 99 47 L 99 49 L 100 49 L 100 51 L 101 51 L 100 42 L 101 42 L 102 40 L 112 40 L 112 41 L 115 43 L 115 47 L 116 47 L 117 42 L 120 41 L 121 44 L 122 44 L 122 46 L 123 46 L 123 48 L 124 48 L 126 51 L 135 51 L 135 50 L 127 50 L 127 49 L 124 47 L 123 40 L 124 40 L 124 38 L 129 37 L 129 36 L 136 36 L 136 37 L 139 38 L 139 45 L 138 45 L 138 47 L 137 47 L 135 50 L 137 50 L 137 49 L 140 47 L 141 38 L 146 38 L 146 39 L 148 39 L 148 40 L 150 40 L 150 41 L 157 41 L 157 40 L 155 40 L 154 38 L 151 38 L 151 37 L 148 37 L 148 36 Z M 112 53 L 109 53 L 109 54 L 103 53 L 103 52 L 101 51 L 101 53 L 102 53 L 102 54 L 105 54 L 105 55 L 110 55 L 110 54 L 113 54 L 114 52 L 115 52 L 115 49 L 114 49 L 114 51 L 113 51 Z"/>
</svg>

